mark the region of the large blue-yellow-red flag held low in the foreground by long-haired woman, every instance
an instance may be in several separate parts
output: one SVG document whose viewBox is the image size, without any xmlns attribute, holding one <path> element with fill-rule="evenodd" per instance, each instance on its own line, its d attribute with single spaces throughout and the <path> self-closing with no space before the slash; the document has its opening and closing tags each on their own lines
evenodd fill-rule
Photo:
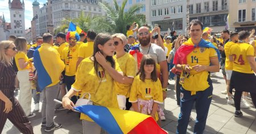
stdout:
<svg viewBox="0 0 256 134">
<path fill-rule="evenodd" d="M 151 116 L 138 112 L 94 105 L 78 106 L 75 107 L 75 110 L 88 115 L 110 134 L 167 133 Z"/>
</svg>

